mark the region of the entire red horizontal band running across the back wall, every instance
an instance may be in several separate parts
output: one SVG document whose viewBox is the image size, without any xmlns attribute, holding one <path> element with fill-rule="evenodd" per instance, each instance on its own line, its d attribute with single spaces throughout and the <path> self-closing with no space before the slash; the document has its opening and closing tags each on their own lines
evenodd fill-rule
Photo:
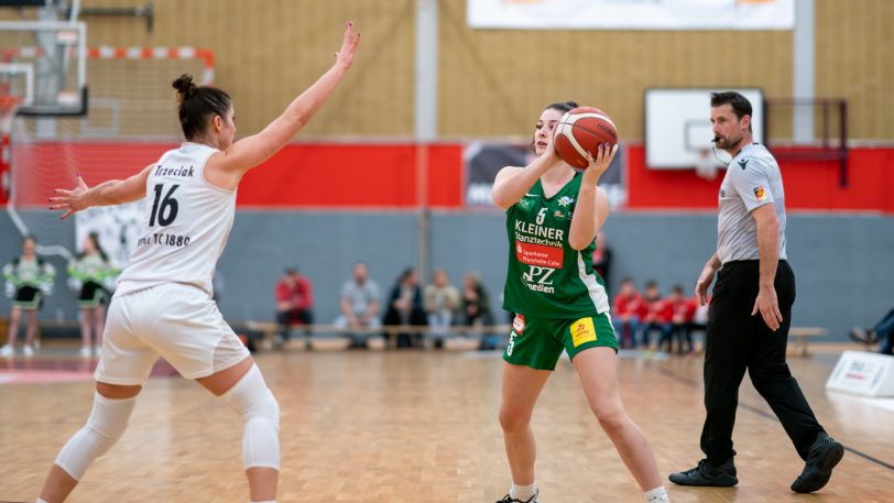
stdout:
<svg viewBox="0 0 894 503">
<path fill-rule="evenodd" d="M 30 171 L 19 204 L 45 207 L 53 188 L 74 183 L 75 168 L 95 185 L 130 176 L 172 146 L 163 142 L 47 142 L 17 149 L 13 170 Z M 246 176 L 238 204 L 292 209 L 413 209 L 419 204 L 416 163 L 427 156 L 427 206 L 460 208 L 462 147 L 459 143 L 292 144 Z M 648 170 L 641 144 L 626 145 L 626 162 L 630 209 L 717 208 L 722 172 L 708 182 L 693 170 Z M 46 166 L 40 167 L 43 164 Z M 851 150 L 849 184 L 843 188 L 838 183 L 836 161 L 783 160 L 779 164 L 788 209 L 894 214 L 894 149 Z"/>
</svg>

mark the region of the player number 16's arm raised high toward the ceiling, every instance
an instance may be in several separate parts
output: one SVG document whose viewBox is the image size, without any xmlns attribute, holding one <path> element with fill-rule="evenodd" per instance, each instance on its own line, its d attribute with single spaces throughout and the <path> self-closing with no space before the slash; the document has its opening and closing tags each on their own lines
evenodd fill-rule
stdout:
<svg viewBox="0 0 894 503">
<path fill-rule="evenodd" d="M 335 64 L 313 86 L 295 98 L 285 111 L 261 132 L 232 144 L 222 155 L 209 160 L 211 168 L 238 172 L 240 175 L 266 161 L 285 146 L 323 107 L 338 83 L 351 67 L 360 33 L 355 34 L 353 23 L 348 23 L 336 53 Z"/>
</svg>

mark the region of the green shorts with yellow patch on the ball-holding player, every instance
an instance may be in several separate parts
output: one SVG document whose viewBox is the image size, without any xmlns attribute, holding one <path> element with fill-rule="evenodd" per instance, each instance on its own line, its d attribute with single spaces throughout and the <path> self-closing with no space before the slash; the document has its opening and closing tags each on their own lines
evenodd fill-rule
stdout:
<svg viewBox="0 0 894 503">
<path fill-rule="evenodd" d="M 580 351 L 600 346 L 618 351 L 608 313 L 579 319 L 516 315 L 503 360 L 513 365 L 555 370 L 563 350 L 574 360 Z"/>
</svg>

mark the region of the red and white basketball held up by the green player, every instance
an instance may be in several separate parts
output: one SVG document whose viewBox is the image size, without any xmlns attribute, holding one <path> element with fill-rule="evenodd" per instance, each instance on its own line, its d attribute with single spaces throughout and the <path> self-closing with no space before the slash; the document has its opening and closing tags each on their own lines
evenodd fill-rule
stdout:
<svg viewBox="0 0 894 503">
<path fill-rule="evenodd" d="M 611 118 L 598 108 L 578 107 L 569 110 L 556 125 L 556 153 L 577 168 L 589 166 L 587 152 L 593 157 L 599 145 L 618 143 L 618 130 Z"/>
</svg>

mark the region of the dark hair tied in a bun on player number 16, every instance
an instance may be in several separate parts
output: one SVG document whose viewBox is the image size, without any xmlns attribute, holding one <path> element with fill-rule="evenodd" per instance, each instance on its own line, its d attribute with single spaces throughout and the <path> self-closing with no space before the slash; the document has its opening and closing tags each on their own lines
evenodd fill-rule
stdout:
<svg viewBox="0 0 894 503">
<path fill-rule="evenodd" d="M 228 94 L 211 86 L 196 86 L 192 75 L 183 74 L 171 85 L 177 90 L 181 128 L 187 140 L 204 133 L 214 116 L 226 118 L 232 106 Z"/>
</svg>

